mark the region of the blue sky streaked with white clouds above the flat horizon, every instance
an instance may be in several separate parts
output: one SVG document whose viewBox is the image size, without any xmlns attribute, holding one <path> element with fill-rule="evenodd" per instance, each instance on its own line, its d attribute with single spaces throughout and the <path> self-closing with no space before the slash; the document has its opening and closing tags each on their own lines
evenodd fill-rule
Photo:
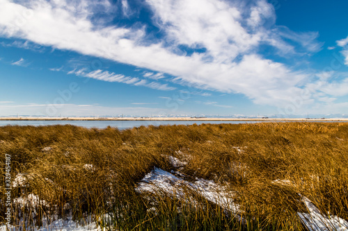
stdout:
<svg viewBox="0 0 348 231">
<path fill-rule="evenodd" d="M 0 6 L 0 116 L 348 114 L 345 0 Z"/>
</svg>

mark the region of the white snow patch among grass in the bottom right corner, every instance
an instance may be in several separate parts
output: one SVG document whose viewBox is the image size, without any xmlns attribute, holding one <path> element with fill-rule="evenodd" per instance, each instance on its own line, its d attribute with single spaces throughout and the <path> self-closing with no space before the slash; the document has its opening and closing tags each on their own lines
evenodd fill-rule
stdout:
<svg viewBox="0 0 348 231">
<path fill-rule="evenodd" d="M 325 216 L 317 207 L 305 196 L 302 198 L 309 214 L 298 212 L 301 221 L 310 231 L 344 231 L 348 230 L 348 222 L 338 216 Z"/>
</svg>

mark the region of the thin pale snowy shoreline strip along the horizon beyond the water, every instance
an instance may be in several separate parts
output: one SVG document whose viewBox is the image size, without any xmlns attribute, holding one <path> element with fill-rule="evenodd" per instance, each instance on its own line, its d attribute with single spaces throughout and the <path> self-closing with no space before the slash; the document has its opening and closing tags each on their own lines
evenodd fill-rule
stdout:
<svg viewBox="0 0 348 231">
<path fill-rule="evenodd" d="M 0 117 L 0 121 L 348 121 L 348 118 L 205 118 L 205 117 Z"/>
</svg>

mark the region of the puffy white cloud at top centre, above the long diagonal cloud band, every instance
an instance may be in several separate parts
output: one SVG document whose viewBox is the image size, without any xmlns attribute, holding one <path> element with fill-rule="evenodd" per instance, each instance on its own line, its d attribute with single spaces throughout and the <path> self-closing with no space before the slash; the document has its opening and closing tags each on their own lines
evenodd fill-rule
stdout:
<svg viewBox="0 0 348 231">
<path fill-rule="evenodd" d="M 155 17 L 176 44 L 207 49 L 218 62 L 231 62 L 239 53 L 258 45 L 260 33 L 243 28 L 241 12 L 219 0 L 148 0 Z M 208 57 L 207 57 L 208 58 Z"/>
</svg>

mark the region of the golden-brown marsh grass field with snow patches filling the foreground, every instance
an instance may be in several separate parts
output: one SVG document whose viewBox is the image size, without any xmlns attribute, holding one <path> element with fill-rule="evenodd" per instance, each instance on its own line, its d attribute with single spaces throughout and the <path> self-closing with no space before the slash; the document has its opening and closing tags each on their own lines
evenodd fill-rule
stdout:
<svg viewBox="0 0 348 231">
<path fill-rule="evenodd" d="M 17 230 L 60 219 L 106 230 L 325 230 L 303 219 L 314 206 L 327 230 L 338 220 L 345 230 L 347 139 L 347 123 L 3 126 L 0 223 L 8 154 Z M 168 179 L 153 180 L 159 173 Z"/>
</svg>

